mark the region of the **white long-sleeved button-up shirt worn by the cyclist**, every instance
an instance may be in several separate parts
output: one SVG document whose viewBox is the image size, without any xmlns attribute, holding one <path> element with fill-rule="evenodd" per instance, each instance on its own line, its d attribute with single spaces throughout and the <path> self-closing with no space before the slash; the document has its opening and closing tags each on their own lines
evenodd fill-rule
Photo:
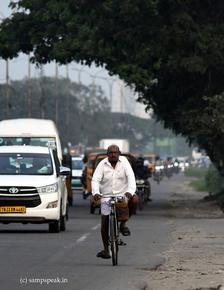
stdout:
<svg viewBox="0 0 224 290">
<path fill-rule="evenodd" d="M 115 169 L 108 157 L 104 158 L 96 167 L 92 178 L 92 194 L 120 195 L 136 191 L 136 181 L 133 170 L 125 156 L 119 156 Z"/>
</svg>

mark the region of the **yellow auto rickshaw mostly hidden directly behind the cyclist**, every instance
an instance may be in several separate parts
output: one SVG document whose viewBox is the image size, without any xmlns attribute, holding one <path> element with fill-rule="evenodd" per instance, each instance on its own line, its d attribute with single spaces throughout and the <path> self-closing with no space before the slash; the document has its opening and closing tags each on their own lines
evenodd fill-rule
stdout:
<svg viewBox="0 0 224 290">
<path fill-rule="evenodd" d="M 135 160 L 136 160 L 135 157 L 132 156 L 131 154 L 121 154 L 121 156 L 125 156 L 128 159 L 129 163 L 131 164 L 132 169 L 134 170 Z M 99 162 L 102 161 L 106 157 L 107 157 L 106 153 L 101 153 L 101 154 L 97 154 L 94 156 L 92 176 L 93 176 L 93 173 L 94 173 L 97 165 L 99 164 Z M 97 201 L 95 201 L 93 198 L 93 195 L 91 194 L 91 196 L 90 196 L 90 213 L 93 214 L 95 212 L 96 208 L 100 208 L 100 204 L 101 204 L 101 199 L 98 199 Z"/>
</svg>

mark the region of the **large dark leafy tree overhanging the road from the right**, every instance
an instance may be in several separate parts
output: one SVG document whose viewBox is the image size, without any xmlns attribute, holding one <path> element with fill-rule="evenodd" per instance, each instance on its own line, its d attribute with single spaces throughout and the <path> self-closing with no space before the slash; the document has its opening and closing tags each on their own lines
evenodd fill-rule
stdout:
<svg viewBox="0 0 224 290">
<path fill-rule="evenodd" d="M 106 64 L 166 128 L 205 149 L 224 175 L 222 0 L 20 0 L 11 5 L 23 11 L 0 25 L 2 58 L 33 51 L 33 61 L 40 63 Z"/>
</svg>

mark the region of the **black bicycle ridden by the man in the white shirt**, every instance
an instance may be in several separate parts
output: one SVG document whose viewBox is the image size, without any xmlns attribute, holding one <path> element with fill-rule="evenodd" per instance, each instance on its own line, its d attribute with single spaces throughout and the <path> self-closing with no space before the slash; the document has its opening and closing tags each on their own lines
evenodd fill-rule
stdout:
<svg viewBox="0 0 224 290">
<path fill-rule="evenodd" d="M 103 195 L 99 195 L 99 198 Z M 116 203 L 117 198 L 123 198 L 124 196 L 107 196 L 110 198 L 111 212 L 109 214 L 109 253 L 112 257 L 112 265 L 118 264 L 118 246 L 126 246 L 127 244 L 121 240 L 121 232 L 118 226 L 118 220 L 116 216 Z"/>
</svg>

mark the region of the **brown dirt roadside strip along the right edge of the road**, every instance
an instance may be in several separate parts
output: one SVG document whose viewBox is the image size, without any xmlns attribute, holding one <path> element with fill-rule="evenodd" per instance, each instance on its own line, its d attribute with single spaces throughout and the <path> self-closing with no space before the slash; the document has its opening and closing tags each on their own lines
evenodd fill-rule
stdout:
<svg viewBox="0 0 224 290">
<path fill-rule="evenodd" d="M 224 213 L 189 181 L 172 194 L 168 209 L 175 231 L 166 262 L 149 273 L 148 290 L 224 290 Z M 223 285 L 223 286 L 222 286 Z"/>
</svg>

